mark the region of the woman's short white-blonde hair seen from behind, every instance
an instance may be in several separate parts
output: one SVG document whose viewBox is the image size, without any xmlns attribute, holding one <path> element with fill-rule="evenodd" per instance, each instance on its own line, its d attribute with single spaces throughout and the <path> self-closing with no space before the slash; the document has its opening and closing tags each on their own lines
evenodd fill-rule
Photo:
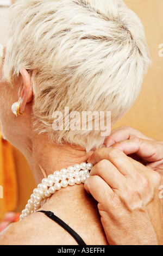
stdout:
<svg viewBox="0 0 163 256">
<path fill-rule="evenodd" d="M 101 131 L 54 131 L 54 111 L 111 111 L 114 124 L 139 95 L 150 63 L 139 17 L 121 0 L 17 0 L 4 63 L 9 83 L 25 68 L 34 91 L 33 123 L 57 144 L 86 151 Z"/>
</svg>

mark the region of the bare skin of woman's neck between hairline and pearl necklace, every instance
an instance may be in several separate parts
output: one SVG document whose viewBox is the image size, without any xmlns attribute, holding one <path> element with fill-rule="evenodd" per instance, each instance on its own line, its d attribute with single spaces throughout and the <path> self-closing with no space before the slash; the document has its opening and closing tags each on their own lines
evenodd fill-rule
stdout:
<svg viewBox="0 0 163 256">
<path fill-rule="evenodd" d="M 32 139 L 28 139 L 24 155 L 32 169 L 36 184 L 39 184 L 55 170 L 86 162 L 92 153 L 93 151 L 86 153 L 85 149 L 76 145 L 52 144 L 45 135 L 34 134 Z"/>
</svg>

